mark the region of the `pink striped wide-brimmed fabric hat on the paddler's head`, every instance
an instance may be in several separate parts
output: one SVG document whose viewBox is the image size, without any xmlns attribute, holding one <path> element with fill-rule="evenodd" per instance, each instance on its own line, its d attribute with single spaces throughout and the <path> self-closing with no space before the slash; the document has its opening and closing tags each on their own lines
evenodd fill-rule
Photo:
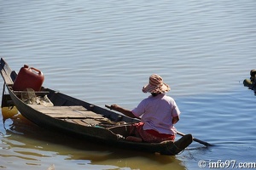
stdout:
<svg viewBox="0 0 256 170">
<path fill-rule="evenodd" d="M 163 78 L 157 74 L 149 77 L 149 83 L 143 87 L 144 93 L 165 94 L 171 90 L 170 86 L 163 81 Z"/>
</svg>

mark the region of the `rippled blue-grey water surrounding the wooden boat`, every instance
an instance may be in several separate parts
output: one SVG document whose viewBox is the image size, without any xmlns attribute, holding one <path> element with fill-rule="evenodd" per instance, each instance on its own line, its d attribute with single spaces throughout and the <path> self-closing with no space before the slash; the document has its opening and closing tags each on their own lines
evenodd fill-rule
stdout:
<svg viewBox="0 0 256 170">
<path fill-rule="evenodd" d="M 44 72 L 46 87 L 127 109 L 148 96 L 141 91 L 148 77 L 160 74 L 182 111 L 177 129 L 214 144 L 154 156 L 49 132 L 4 110 L 0 167 L 169 170 L 198 169 L 201 160 L 254 162 L 256 98 L 242 81 L 255 69 L 255 3 L 0 1 L 0 52 L 13 70 L 32 65 Z"/>
</svg>

